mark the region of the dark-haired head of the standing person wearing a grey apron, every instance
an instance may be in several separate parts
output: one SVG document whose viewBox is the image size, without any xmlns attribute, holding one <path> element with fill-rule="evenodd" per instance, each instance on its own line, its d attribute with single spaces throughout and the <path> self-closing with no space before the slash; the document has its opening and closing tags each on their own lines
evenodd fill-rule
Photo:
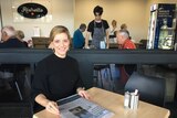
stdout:
<svg viewBox="0 0 177 118">
<path fill-rule="evenodd" d="M 100 21 L 101 20 L 101 17 L 102 17 L 102 13 L 103 13 L 103 8 L 100 7 L 100 6 L 96 6 L 94 9 L 93 9 L 93 13 L 95 15 L 95 20 L 96 21 Z"/>
</svg>

